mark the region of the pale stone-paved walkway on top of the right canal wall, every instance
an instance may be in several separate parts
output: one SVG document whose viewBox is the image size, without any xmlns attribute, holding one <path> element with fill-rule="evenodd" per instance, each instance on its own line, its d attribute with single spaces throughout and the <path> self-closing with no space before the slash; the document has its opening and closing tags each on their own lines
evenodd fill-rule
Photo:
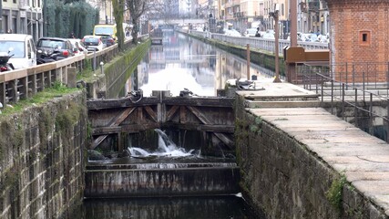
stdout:
<svg viewBox="0 0 389 219">
<path fill-rule="evenodd" d="M 264 90 L 238 91 L 252 100 L 248 106 L 253 114 L 305 144 L 334 170 L 343 172 L 348 182 L 389 216 L 389 145 L 385 141 L 314 107 L 319 99 L 311 91 L 289 83 L 264 82 L 256 87 Z M 304 104 L 305 100 L 311 103 Z M 305 108 L 297 107 L 298 103 Z"/>
</svg>

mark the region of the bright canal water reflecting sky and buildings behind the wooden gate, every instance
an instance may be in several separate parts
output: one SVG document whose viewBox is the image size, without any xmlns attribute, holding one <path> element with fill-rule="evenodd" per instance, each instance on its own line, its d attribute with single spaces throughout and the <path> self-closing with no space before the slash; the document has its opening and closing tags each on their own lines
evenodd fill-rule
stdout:
<svg viewBox="0 0 389 219">
<path fill-rule="evenodd" d="M 247 78 L 247 62 L 216 47 L 175 32 L 164 33 L 163 46 L 153 45 L 130 78 L 132 89 L 170 90 L 172 96 L 189 89 L 199 96 L 216 96 L 230 78 Z M 270 70 L 251 64 L 250 78 L 271 79 Z M 128 86 L 128 91 L 131 90 Z M 127 92 L 126 92 L 127 93 Z"/>
</svg>

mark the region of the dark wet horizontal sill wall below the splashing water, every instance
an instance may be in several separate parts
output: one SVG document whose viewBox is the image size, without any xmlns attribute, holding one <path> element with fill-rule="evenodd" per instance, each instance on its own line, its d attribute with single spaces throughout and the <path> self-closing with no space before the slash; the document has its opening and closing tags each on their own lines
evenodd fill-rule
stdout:
<svg viewBox="0 0 389 219">
<path fill-rule="evenodd" d="M 239 193 L 235 163 L 138 163 L 89 165 L 87 198 L 193 196 Z"/>
</svg>

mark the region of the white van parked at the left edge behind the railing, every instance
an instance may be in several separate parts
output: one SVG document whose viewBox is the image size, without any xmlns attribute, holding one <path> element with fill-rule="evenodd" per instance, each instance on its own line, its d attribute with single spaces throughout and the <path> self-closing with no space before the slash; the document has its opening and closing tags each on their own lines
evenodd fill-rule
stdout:
<svg viewBox="0 0 389 219">
<path fill-rule="evenodd" d="M 13 55 L 8 63 L 15 69 L 36 66 L 36 45 L 33 36 L 23 34 L 0 34 L 0 52 Z"/>
</svg>

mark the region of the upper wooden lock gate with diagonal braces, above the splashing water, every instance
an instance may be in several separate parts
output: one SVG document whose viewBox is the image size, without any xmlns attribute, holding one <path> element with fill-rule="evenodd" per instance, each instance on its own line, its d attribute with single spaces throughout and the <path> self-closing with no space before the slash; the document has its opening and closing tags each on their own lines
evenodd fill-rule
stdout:
<svg viewBox="0 0 389 219">
<path fill-rule="evenodd" d="M 233 151 L 233 98 L 170 97 L 169 91 L 153 92 L 151 97 L 87 101 L 93 143 L 96 149 L 110 138 L 146 130 L 187 130 L 200 132 L 202 140 L 225 151 Z M 120 148 L 120 146 L 119 146 Z"/>
</svg>

